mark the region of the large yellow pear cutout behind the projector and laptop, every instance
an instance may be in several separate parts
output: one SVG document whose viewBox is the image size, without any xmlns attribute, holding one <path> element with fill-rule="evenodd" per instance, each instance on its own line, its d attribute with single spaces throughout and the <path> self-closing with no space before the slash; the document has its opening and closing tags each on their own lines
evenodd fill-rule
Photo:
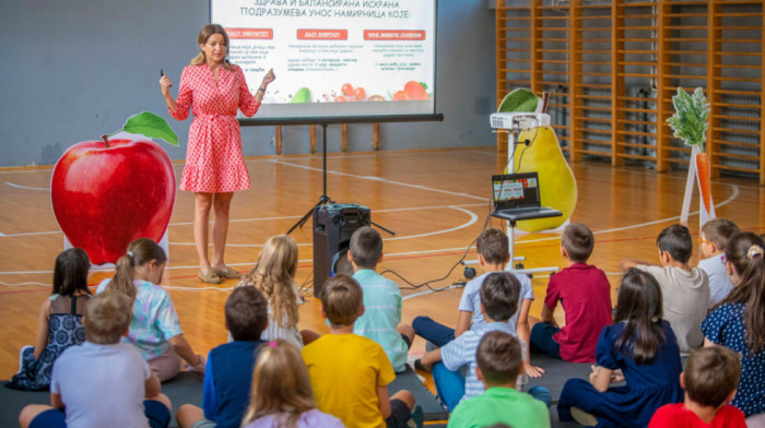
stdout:
<svg viewBox="0 0 765 428">
<path fill-rule="evenodd" d="M 499 105 L 503 111 L 534 111 L 539 98 L 529 90 L 515 90 Z M 560 217 L 527 219 L 518 222 L 517 228 L 523 231 L 540 231 L 562 226 L 574 213 L 577 201 L 576 179 L 568 167 L 555 131 L 550 127 L 526 130 L 517 141 L 529 141 L 529 145 L 518 144 L 514 156 L 515 173 L 539 174 L 540 200 L 563 213 Z"/>
</svg>

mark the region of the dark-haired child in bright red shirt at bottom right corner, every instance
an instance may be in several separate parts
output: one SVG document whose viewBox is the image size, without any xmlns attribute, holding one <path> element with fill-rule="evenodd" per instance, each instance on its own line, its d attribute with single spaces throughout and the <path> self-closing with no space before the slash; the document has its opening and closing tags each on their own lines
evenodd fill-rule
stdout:
<svg viewBox="0 0 765 428">
<path fill-rule="evenodd" d="M 744 414 L 729 404 L 740 376 L 739 356 L 727 347 L 694 350 L 680 374 L 685 402 L 659 407 L 648 428 L 746 428 Z"/>
</svg>

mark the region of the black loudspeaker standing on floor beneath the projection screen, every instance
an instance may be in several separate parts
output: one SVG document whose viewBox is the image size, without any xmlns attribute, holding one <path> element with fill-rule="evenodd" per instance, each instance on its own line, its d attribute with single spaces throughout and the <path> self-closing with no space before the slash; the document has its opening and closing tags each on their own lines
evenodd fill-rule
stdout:
<svg viewBox="0 0 765 428">
<path fill-rule="evenodd" d="M 369 223 L 369 209 L 362 205 L 331 203 L 314 210 L 314 296 L 320 296 L 325 281 L 336 273 L 353 275 L 348 261 L 351 235 Z"/>
</svg>

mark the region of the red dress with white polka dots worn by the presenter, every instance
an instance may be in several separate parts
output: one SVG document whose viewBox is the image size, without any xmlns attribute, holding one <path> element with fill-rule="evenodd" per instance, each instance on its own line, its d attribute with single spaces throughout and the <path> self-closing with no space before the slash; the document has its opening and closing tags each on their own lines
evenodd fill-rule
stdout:
<svg viewBox="0 0 765 428">
<path fill-rule="evenodd" d="M 186 67 L 176 104 L 176 110 L 169 111 L 174 118 L 188 118 L 189 107 L 195 116 L 180 190 L 217 193 L 248 189 L 249 174 L 242 157 L 236 110 L 250 117 L 260 103 L 250 94 L 242 69 L 219 67 L 215 83 L 209 66 Z"/>
</svg>

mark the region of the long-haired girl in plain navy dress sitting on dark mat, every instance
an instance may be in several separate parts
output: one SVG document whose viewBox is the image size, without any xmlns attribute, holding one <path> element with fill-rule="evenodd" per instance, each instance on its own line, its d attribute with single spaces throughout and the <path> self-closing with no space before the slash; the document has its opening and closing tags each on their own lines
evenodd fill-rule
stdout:
<svg viewBox="0 0 765 428">
<path fill-rule="evenodd" d="M 586 427 L 648 425 L 657 408 L 680 403 L 680 349 L 661 317 L 661 288 L 649 273 L 631 269 L 622 278 L 614 324 L 600 333 L 589 382 L 569 379 L 557 404 L 563 421 Z M 611 387 L 621 378 L 626 385 Z"/>
</svg>

